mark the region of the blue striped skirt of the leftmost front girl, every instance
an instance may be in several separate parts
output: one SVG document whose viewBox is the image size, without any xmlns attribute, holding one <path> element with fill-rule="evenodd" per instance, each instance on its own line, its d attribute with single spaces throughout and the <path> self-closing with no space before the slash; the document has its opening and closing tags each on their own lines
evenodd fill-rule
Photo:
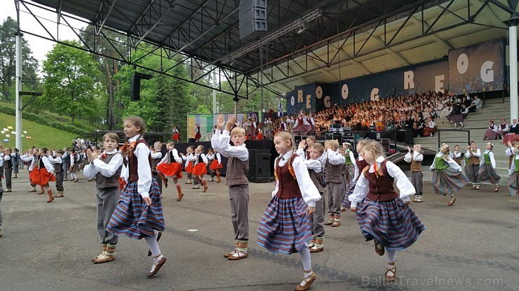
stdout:
<svg viewBox="0 0 519 291">
<path fill-rule="evenodd" d="M 162 213 L 162 194 L 155 177 L 149 188 L 151 205 L 144 204 L 137 192 L 137 181 L 126 184 L 119 196 L 119 204 L 108 222 L 107 230 L 130 239 L 142 239 L 154 236 L 154 230 L 164 231 L 164 215 Z"/>
</svg>

